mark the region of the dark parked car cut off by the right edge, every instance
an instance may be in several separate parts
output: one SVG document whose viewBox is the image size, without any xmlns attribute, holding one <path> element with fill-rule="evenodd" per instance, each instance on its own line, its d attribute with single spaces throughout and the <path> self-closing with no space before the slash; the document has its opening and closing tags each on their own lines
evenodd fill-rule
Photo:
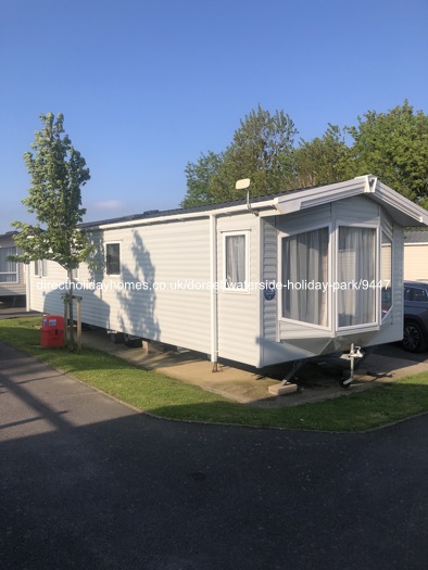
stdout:
<svg viewBox="0 0 428 570">
<path fill-rule="evenodd" d="M 401 341 L 408 352 L 428 347 L 428 283 L 404 281 L 404 331 Z"/>
</svg>

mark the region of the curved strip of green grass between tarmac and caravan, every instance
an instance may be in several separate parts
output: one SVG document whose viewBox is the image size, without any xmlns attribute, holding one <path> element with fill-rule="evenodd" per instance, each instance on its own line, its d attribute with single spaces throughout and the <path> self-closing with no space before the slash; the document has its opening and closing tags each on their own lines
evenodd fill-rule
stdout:
<svg viewBox="0 0 428 570">
<path fill-rule="evenodd" d="M 75 378 L 159 417 L 270 428 L 361 431 L 428 410 L 428 372 L 326 402 L 279 409 L 230 402 L 146 371 L 108 353 L 41 349 L 40 317 L 0 320 L 0 339 Z"/>
</svg>

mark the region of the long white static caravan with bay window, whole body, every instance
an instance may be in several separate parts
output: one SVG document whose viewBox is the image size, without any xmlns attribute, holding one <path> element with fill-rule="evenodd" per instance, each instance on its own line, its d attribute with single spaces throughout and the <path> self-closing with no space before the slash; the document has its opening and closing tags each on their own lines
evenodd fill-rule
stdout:
<svg viewBox="0 0 428 570">
<path fill-rule="evenodd" d="M 257 368 L 398 341 L 403 228 L 428 213 L 368 175 L 83 224 L 83 321 Z M 28 308 L 62 313 L 65 271 L 32 264 Z"/>
</svg>

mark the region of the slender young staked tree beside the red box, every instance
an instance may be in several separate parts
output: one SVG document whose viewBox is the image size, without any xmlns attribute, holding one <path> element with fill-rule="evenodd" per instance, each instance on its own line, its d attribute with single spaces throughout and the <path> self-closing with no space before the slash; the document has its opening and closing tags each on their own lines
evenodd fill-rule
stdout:
<svg viewBox="0 0 428 570">
<path fill-rule="evenodd" d="M 18 230 L 16 245 L 23 254 L 15 261 L 51 259 L 67 271 L 71 289 L 68 302 L 68 346 L 74 350 L 73 333 L 73 269 L 88 258 L 91 251 L 86 235 L 77 228 L 86 210 L 81 206 L 80 187 L 89 179 L 85 159 L 64 134 L 64 116 L 59 113 L 40 115 L 43 124 L 36 131 L 30 144 L 35 151 L 24 153 L 24 161 L 32 177 L 28 197 L 23 200 L 28 212 L 36 215 L 38 224 L 14 221 Z"/>
</svg>

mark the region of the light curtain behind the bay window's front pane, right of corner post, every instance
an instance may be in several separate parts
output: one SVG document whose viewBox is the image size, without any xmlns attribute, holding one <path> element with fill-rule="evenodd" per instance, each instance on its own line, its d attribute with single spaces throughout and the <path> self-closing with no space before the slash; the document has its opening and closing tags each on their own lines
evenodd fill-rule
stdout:
<svg viewBox="0 0 428 570">
<path fill-rule="evenodd" d="M 376 321 L 376 230 L 339 228 L 339 327 Z"/>
</svg>

